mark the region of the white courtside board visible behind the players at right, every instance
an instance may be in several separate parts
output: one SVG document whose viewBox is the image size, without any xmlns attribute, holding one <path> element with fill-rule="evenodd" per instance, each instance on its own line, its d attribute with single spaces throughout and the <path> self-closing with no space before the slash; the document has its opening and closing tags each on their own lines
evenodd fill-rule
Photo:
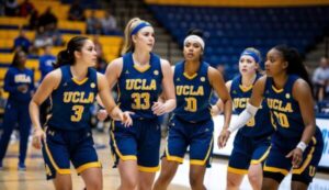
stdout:
<svg viewBox="0 0 329 190">
<path fill-rule="evenodd" d="M 237 118 L 237 115 L 232 115 L 231 121 L 234 121 Z M 224 116 L 217 115 L 214 116 L 214 123 L 215 123 L 215 131 L 214 131 L 214 139 L 215 139 L 215 146 L 214 146 L 214 155 L 220 155 L 220 156 L 229 156 L 232 149 L 232 142 L 236 136 L 236 133 L 232 133 L 226 144 L 226 147 L 223 149 L 219 149 L 217 146 L 217 137 L 222 131 L 223 123 L 224 123 Z M 324 135 L 324 152 L 322 157 L 319 163 L 319 167 L 329 168 L 329 119 L 316 119 L 317 125 L 320 127 L 322 135 Z"/>
</svg>

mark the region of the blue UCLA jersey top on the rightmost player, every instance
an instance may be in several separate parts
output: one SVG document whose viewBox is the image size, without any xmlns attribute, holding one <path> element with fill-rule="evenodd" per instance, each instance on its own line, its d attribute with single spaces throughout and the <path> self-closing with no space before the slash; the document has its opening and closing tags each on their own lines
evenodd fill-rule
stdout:
<svg viewBox="0 0 329 190">
<path fill-rule="evenodd" d="M 276 127 L 273 142 L 280 147 L 288 149 L 298 144 L 305 127 L 299 104 L 293 98 L 293 86 L 298 78 L 298 76 L 290 75 L 284 88 L 276 89 L 273 78 L 268 77 L 264 89 L 264 97 Z M 321 136 L 318 127 L 315 136 L 316 138 Z"/>
</svg>

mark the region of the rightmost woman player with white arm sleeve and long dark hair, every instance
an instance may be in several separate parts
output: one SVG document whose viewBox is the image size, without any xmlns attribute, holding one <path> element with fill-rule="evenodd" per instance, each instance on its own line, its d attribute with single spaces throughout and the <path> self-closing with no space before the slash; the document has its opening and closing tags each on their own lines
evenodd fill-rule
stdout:
<svg viewBox="0 0 329 190">
<path fill-rule="evenodd" d="M 266 76 L 256 82 L 246 110 L 225 132 L 222 144 L 256 114 L 264 99 L 276 131 L 263 167 L 262 189 L 277 189 L 292 169 L 291 188 L 306 190 L 324 149 L 322 135 L 315 123 L 311 83 L 297 51 L 284 45 L 268 52 L 265 70 Z"/>
</svg>

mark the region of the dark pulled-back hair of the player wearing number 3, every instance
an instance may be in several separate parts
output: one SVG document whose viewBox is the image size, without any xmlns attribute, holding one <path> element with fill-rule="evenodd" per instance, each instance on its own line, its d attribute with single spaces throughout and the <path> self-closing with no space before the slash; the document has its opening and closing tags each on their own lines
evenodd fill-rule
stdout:
<svg viewBox="0 0 329 190">
<path fill-rule="evenodd" d="M 75 52 L 76 51 L 80 52 L 87 40 L 89 38 L 84 36 L 72 37 L 68 42 L 66 49 L 60 51 L 57 54 L 57 62 L 54 65 L 54 68 L 58 68 L 64 65 L 75 65 L 76 63 Z"/>
</svg>

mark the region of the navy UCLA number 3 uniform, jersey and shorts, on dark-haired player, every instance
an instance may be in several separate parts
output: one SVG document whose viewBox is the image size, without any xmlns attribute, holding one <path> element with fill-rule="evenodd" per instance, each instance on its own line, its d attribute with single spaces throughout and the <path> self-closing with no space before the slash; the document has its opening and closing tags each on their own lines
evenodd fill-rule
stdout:
<svg viewBox="0 0 329 190">
<path fill-rule="evenodd" d="M 70 66 L 60 67 L 61 80 L 52 92 L 52 116 L 47 121 L 43 154 L 47 179 L 58 174 L 70 174 L 70 160 L 78 174 L 91 167 L 101 167 L 91 128 L 90 107 L 98 93 L 97 71 L 88 69 L 82 81 L 72 78 Z"/>
</svg>

